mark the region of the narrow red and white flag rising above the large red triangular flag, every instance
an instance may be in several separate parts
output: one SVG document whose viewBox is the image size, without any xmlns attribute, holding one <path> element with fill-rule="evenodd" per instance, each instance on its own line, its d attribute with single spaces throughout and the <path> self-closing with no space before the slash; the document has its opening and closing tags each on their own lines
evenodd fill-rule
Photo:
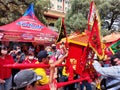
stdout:
<svg viewBox="0 0 120 90">
<path fill-rule="evenodd" d="M 90 10 L 89 10 L 89 14 L 88 14 L 88 30 L 89 31 L 91 30 L 91 27 L 93 26 L 95 16 L 96 16 L 97 20 L 100 22 L 98 10 L 96 8 L 94 1 L 92 1 L 90 3 Z M 99 23 L 99 26 L 100 26 L 100 23 Z"/>
</svg>

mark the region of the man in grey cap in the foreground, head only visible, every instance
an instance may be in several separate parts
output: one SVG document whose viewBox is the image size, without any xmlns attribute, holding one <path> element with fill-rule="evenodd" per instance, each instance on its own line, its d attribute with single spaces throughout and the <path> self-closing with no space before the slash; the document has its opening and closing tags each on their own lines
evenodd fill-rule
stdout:
<svg viewBox="0 0 120 90">
<path fill-rule="evenodd" d="M 13 87 L 13 90 L 37 90 L 36 81 L 40 80 L 42 77 L 36 75 L 33 70 L 24 69 L 18 72 L 14 76 L 14 83 L 16 84 Z"/>
</svg>

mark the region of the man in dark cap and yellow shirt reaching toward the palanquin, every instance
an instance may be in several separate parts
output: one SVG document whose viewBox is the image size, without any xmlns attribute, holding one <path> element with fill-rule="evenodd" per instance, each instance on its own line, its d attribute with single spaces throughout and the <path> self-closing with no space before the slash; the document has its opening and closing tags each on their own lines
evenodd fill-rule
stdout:
<svg viewBox="0 0 120 90">
<path fill-rule="evenodd" d="M 54 73 L 54 69 L 55 66 L 60 64 L 68 55 L 68 52 L 62 57 L 60 58 L 58 61 L 50 64 L 50 72 L 47 72 L 47 68 L 37 68 L 34 69 L 34 71 L 37 73 L 37 75 L 42 76 L 42 79 L 38 81 L 39 85 L 45 85 L 45 84 L 49 84 L 52 83 L 53 80 L 53 73 Z M 42 65 L 49 65 L 49 54 L 47 53 L 46 50 L 40 51 L 37 55 L 38 57 L 38 61 L 40 64 Z"/>
</svg>

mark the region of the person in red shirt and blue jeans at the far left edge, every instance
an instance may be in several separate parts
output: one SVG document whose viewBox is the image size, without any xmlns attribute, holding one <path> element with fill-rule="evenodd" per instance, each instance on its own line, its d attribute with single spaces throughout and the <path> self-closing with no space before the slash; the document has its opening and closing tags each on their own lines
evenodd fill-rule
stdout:
<svg viewBox="0 0 120 90">
<path fill-rule="evenodd" d="M 3 67 L 5 64 L 13 64 L 12 56 L 8 55 L 8 48 L 0 47 L 0 90 L 10 90 L 12 87 L 12 70 Z"/>
</svg>

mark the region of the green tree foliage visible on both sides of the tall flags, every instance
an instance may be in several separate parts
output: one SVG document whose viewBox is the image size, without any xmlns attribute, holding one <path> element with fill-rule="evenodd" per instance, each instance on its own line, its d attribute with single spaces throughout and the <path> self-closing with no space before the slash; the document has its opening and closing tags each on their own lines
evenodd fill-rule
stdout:
<svg viewBox="0 0 120 90">
<path fill-rule="evenodd" d="M 91 1 L 92 0 L 71 0 L 71 8 L 65 17 L 68 32 L 76 30 L 83 32 L 84 29 L 87 29 L 87 16 Z M 95 0 L 95 4 L 101 18 L 103 30 L 115 29 L 115 22 L 117 22 L 117 26 L 120 27 L 120 0 Z"/>
</svg>

